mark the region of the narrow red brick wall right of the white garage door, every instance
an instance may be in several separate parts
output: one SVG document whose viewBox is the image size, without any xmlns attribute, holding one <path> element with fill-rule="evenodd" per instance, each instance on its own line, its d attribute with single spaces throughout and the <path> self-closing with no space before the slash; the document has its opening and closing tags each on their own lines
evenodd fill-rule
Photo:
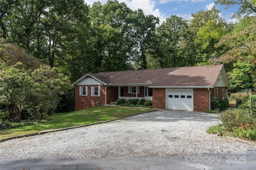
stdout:
<svg viewBox="0 0 256 170">
<path fill-rule="evenodd" d="M 209 110 L 209 91 L 207 88 L 194 88 L 194 111 Z"/>
</svg>

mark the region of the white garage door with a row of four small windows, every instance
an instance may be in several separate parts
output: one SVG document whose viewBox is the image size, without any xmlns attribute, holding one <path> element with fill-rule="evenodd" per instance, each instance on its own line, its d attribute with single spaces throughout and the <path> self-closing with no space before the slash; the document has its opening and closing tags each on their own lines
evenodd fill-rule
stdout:
<svg viewBox="0 0 256 170">
<path fill-rule="evenodd" d="M 166 109 L 193 111 L 193 89 L 167 89 Z"/>
</svg>

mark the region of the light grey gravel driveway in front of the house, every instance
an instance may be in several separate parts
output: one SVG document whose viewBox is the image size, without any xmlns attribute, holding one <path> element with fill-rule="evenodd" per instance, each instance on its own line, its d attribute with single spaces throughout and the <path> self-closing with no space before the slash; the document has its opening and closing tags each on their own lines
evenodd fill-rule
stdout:
<svg viewBox="0 0 256 170">
<path fill-rule="evenodd" d="M 217 125 L 215 114 L 153 111 L 66 131 L 0 143 L 5 158 L 130 158 L 234 152 L 255 145 L 206 133 Z"/>
</svg>

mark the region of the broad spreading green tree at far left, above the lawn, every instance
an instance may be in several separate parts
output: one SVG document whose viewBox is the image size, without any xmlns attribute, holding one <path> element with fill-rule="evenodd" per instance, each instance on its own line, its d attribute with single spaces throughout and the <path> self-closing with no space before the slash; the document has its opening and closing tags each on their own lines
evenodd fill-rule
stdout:
<svg viewBox="0 0 256 170">
<path fill-rule="evenodd" d="M 68 78 L 56 74 L 49 66 L 27 71 L 22 63 L 0 65 L 0 102 L 6 106 L 10 122 L 20 122 L 22 111 L 37 102 L 45 103 L 52 98 L 59 101 L 58 95 L 64 94 L 68 86 Z"/>
</svg>

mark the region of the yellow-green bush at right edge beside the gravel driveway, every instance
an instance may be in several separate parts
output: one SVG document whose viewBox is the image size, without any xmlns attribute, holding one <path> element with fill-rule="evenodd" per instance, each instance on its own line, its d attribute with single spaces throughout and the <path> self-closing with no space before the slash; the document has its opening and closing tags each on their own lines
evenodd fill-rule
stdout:
<svg viewBox="0 0 256 170">
<path fill-rule="evenodd" d="M 222 121 L 222 125 L 229 131 L 232 131 L 234 127 L 237 127 L 237 123 L 245 124 L 247 122 L 253 123 L 250 110 L 244 109 L 229 109 L 222 111 L 218 117 Z"/>
</svg>

